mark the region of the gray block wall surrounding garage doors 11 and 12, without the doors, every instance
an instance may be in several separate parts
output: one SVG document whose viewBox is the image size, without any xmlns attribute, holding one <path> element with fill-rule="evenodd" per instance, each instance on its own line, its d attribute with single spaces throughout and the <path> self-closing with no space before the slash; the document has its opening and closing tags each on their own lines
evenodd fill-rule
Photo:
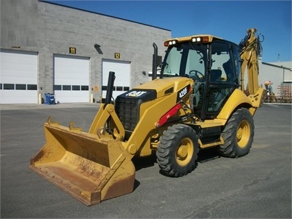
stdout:
<svg viewBox="0 0 292 219">
<path fill-rule="evenodd" d="M 162 56 L 163 41 L 171 37 L 169 30 L 42 1 L 38 2 L 38 30 L 42 93 L 52 92 L 53 54 L 90 58 L 90 91 L 95 85 L 101 88 L 102 60 L 114 60 L 114 53 L 121 54 L 117 60 L 131 62 L 131 87 L 149 81 L 142 72 L 151 71 L 152 44 L 158 45 Z M 76 54 L 69 54 L 69 47 L 75 47 Z M 99 100 L 101 89 L 92 93 Z"/>
</svg>

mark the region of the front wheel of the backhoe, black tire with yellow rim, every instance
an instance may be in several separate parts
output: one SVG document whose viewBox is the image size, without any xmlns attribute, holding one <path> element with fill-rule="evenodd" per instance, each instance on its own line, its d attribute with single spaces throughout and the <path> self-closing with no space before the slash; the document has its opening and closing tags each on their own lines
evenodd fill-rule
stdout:
<svg viewBox="0 0 292 219">
<path fill-rule="evenodd" d="M 156 157 L 162 174 L 178 177 L 195 169 L 198 152 L 195 130 L 185 124 L 175 124 L 160 137 Z"/>
</svg>

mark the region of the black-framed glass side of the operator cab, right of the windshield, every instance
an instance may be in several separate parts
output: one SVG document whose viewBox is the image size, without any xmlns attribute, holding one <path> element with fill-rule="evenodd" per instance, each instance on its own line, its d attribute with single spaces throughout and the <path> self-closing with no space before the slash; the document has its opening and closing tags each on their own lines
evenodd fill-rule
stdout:
<svg viewBox="0 0 292 219">
<path fill-rule="evenodd" d="M 215 40 L 208 51 L 206 83 L 197 84 L 197 92 L 194 89 L 194 96 L 199 97 L 199 101 L 194 102 L 194 111 L 203 120 L 217 117 L 228 97 L 239 87 L 240 75 L 238 45 Z"/>
</svg>

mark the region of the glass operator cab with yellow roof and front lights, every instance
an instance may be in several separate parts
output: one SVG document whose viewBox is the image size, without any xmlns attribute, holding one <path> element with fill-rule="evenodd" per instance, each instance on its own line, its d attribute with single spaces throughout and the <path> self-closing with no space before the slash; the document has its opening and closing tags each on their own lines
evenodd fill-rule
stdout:
<svg viewBox="0 0 292 219">
<path fill-rule="evenodd" d="M 239 46 L 210 35 L 175 38 L 165 46 L 160 78 L 192 78 L 194 113 L 202 120 L 217 117 L 240 85 Z"/>
</svg>

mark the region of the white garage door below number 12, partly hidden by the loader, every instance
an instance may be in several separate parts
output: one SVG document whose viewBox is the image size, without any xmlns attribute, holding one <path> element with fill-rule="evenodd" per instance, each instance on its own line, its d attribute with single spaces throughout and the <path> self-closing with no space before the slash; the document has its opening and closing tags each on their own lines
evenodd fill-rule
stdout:
<svg viewBox="0 0 292 219">
<path fill-rule="evenodd" d="M 114 99 L 121 93 L 130 90 L 130 62 L 117 60 L 102 61 L 102 98 L 106 98 L 106 88 L 108 86 L 108 74 L 114 71 L 116 79 L 114 80 Z"/>
</svg>

